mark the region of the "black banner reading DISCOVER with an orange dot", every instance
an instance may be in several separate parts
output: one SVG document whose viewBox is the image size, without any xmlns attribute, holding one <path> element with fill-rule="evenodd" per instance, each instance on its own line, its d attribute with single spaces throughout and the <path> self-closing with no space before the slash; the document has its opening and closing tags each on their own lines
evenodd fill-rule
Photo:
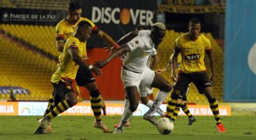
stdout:
<svg viewBox="0 0 256 140">
<path fill-rule="evenodd" d="M 82 17 L 92 20 L 102 31 L 107 32 L 115 41 L 137 25 L 147 29 L 156 22 L 156 0 L 127 1 L 81 1 Z M 106 46 L 100 38 L 92 36 L 87 46 Z"/>
</svg>

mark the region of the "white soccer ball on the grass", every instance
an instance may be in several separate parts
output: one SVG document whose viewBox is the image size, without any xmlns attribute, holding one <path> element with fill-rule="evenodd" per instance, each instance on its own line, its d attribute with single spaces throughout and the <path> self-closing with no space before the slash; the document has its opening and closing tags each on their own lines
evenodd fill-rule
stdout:
<svg viewBox="0 0 256 140">
<path fill-rule="evenodd" d="M 167 135 L 170 134 L 174 129 L 173 122 L 170 121 L 169 118 L 160 118 L 158 120 L 157 130 L 159 133 Z"/>
</svg>

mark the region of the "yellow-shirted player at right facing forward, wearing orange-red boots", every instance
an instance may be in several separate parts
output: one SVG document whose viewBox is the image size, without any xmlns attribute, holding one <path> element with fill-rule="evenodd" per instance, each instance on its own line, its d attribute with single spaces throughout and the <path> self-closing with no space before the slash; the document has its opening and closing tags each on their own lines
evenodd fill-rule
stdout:
<svg viewBox="0 0 256 140">
<path fill-rule="evenodd" d="M 204 35 L 200 34 L 201 22 L 197 18 L 192 18 L 189 21 L 189 32 L 182 34 L 175 40 L 175 48 L 172 58 L 172 80 L 176 81 L 173 87 L 172 95 L 169 100 L 171 104 L 167 104 L 166 116 L 172 118 L 171 110 L 180 108 L 182 99 L 181 93 L 184 92 L 189 83 L 193 82 L 200 94 L 204 94 L 209 101 L 211 111 L 216 120 L 218 132 L 225 132 L 225 127 L 220 120 L 220 111 L 218 102 L 212 95 L 212 83 L 214 81 L 214 62 L 212 58 L 211 42 Z M 177 57 L 181 55 L 179 75 L 175 73 L 177 67 Z M 204 64 L 204 55 L 208 56 L 211 67 L 210 79 L 206 74 Z M 175 113 L 175 111 L 173 112 Z"/>
</svg>

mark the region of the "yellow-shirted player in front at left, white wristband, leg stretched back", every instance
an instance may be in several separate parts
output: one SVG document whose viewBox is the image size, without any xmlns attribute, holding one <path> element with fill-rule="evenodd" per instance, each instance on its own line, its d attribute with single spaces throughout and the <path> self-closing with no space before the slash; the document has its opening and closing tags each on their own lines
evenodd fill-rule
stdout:
<svg viewBox="0 0 256 140">
<path fill-rule="evenodd" d="M 59 57 L 57 70 L 52 74 L 51 82 L 54 88 L 54 108 L 44 116 L 35 134 L 48 133 L 47 126 L 52 118 L 77 104 L 77 97 L 72 89 L 72 81 L 75 80 L 79 66 L 90 69 L 97 76 L 102 72 L 99 68 L 87 64 L 83 60 L 83 43 L 90 38 L 92 25 L 87 21 L 81 21 L 77 25 L 74 36 L 70 36 L 65 42 L 63 51 Z"/>
</svg>

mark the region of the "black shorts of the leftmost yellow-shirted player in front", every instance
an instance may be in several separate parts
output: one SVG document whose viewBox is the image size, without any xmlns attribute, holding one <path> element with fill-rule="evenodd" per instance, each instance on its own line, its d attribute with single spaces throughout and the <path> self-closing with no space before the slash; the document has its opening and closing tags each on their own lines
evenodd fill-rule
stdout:
<svg viewBox="0 0 256 140">
<path fill-rule="evenodd" d="M 69 92 L 74 92 L 72 88 L 72 81 L 70 80 L 60 80 L 58 84 L 52 83 L 52 86 L 54 88 L 54 104 L 64 100 L 65 95 Z"/>
</svg>

